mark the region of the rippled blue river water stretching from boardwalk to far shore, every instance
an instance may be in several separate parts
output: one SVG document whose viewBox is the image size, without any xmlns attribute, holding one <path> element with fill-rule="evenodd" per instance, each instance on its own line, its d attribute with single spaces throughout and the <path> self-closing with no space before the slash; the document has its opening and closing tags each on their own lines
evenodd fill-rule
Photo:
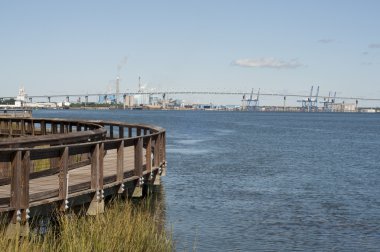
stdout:
<svg viewBox="0 0 380 252">
<path fill-rule="evenodd" d="M 167 129 L 179 251 L 380 251 L 380 115 L 36 111 Z"/>
</svg>

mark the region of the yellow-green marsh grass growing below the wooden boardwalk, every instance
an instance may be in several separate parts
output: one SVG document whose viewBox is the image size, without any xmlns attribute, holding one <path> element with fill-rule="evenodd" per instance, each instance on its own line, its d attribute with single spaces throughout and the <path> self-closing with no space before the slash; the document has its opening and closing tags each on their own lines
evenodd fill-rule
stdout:
<svg viewBox="0 0 380 252">
<path fill-rule="evenodd" d="M 24 239 L 6 238 L 3 222 L 0 251 L 173 251 L 172 238 L 147 204 L 115 200 L 95 217 L 57 215 L 55 228 L 43 236 L 31 232 Z"/>
</svg>

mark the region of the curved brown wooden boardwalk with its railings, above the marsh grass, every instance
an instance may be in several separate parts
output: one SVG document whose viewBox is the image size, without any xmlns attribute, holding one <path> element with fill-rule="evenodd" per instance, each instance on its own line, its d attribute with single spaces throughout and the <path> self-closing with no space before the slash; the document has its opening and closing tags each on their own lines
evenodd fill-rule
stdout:
<svg viewBox="0 0 380 252">
<path fill-rule="evenodd" d="M 165 130 L 151 125 L 0 118 L 0 137 L 0 214 L 11 227 L 47 205 L 101 213 L 105 197 L 141 196 L 166 167 Z"/>
</svg>

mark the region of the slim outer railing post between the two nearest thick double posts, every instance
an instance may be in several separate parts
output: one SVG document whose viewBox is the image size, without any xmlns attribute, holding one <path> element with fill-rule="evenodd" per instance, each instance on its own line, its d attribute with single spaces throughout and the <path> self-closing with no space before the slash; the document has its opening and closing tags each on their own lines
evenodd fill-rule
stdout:
<svg viewBox="0 0 380 252">
<path fill-rule="evenodd" d="M 63 151 L 61 152 L 61 157 L 59 161 L 59 199 L 61 200 L 59 209 L 61 211 L 65 211 L 67 206 L 68 200 L 68 189 L 69 189 L 69 174 L 68 174 L 68 167 L 69 167 L 69 147 L 65 147 Z"/>
</svg>

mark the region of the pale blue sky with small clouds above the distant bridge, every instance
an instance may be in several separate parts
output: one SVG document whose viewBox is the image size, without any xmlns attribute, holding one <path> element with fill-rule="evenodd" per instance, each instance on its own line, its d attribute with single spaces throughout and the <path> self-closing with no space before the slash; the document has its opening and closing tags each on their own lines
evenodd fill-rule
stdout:
<svg viewBox="0 0 380 252">
<path fill-rule="evenodd" d="M 379 11 L 377 0 L 0 0 L 0 96 L 22 86 L 105 93 L 119 75 L 121 92 L 137 91 L 141 76 L 157 91 L 308 94 L 314 85 L 380 98 Z"/>
</svg>

